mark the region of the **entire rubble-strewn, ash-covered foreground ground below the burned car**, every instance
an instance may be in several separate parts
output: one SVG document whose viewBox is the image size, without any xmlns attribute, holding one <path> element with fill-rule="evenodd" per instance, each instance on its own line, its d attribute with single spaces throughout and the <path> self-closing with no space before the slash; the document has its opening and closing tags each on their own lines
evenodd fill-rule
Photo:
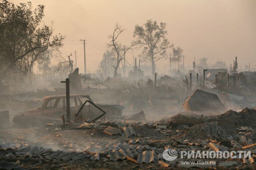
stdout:
<svg viewBox="0 0 256 170">
<path fill-rule="evenodd" d="M 218 116 L 182 113 L 154 123 L 95 123 L 0 130 L 3 169 L 255 169 L 256 110 Z M 167 161 L 173 148 L 178 158 Z M 182 150 L 251 151 L 246 159 L 200 159 L 214 165 L 183 165 Z M 189 159 L 198 161 L 198 159 Z"/>
</svg>

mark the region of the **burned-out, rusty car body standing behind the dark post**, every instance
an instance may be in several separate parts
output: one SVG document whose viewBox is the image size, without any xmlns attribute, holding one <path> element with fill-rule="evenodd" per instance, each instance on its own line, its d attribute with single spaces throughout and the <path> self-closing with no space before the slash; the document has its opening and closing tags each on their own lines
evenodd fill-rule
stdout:
<svg viewBox="0 0 256 170">
<path fill-rule="evenodd" d="M 88 105 L 85 105 L 86 101 L 90 101 L 87 102 Z M 122 105 L 94 104 L 88 95 L 70 95 L 71 121 L 90 121 L 95 118 L 100 118 L 101 116 L 112 119 L 121 118 L 123 108 Z M 80 120 L 76 118 L 76 114 L 79 110 L 81 110 L 78 117 Z M 102 111 L 104 111 L 104 114 L 102 114 Z M 63 115 L 66 116 L 66 95 L 46 96 L 40 108 L 18 113 L 14 116 L 13 123 L 19 125 L 61 123 L 61 117 Z"/>
</svg>

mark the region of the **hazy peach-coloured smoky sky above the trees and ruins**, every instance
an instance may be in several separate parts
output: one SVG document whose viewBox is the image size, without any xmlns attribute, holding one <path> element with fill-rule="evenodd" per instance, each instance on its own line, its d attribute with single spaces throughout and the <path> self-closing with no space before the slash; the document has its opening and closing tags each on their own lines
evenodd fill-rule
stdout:
<svg viewBox="0 0 256 170">
<path fill-rule="evenodd" d="M 26 2 L 13 0 L 13 3 Z M 87 40 L 88 71 L 95 71 L 106 51 L 114 25 L 125 29 L 120 42 L 129 45 L 136 24 L 147 19 L 167 24 L 168 39 L 184 49 L 185 66 L 192 69 L 194 57 L 207 57 L 210 63 L 238 57 L 239 68 L 256 65 L 255 0 L 33 0 L 45 5 L 43 22 L 53 22 L 55 34 L 66 35 L 61 48 L 65 57 L 77 51 L 77 66 L 83 67 L 83 44 Z M 171 49 L 168 49 L 168 53 Z M 134 51 L 137 56 L 138 51 Z M 127 55 L 132 63 L 132 55 Z M 157 69 L 168 71 L 168 60 L 157 62 Z M 174 64 L 175 66 L 175 64 Z"/>
</svg>

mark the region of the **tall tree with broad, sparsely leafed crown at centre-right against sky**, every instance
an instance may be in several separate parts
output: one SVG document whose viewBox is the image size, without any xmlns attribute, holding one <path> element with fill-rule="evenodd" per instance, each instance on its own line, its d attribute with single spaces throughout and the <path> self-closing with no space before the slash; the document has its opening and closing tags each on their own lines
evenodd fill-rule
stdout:
<svg viewBox="0 0 256 170">
<path fill-rule="evenodd" d="M 144 26 L 136 25 L 133 37 L 137 40 L 135 44 L 141 45 L 143 48 L 142 55 L 151 61 L 151 73 L 155 74 L 155 62 L 166 56 L 166 49 L 172 47 L 166 38 L 166 24 L 157 24 L 156 21 L 147 20 Z"/>
</svg>

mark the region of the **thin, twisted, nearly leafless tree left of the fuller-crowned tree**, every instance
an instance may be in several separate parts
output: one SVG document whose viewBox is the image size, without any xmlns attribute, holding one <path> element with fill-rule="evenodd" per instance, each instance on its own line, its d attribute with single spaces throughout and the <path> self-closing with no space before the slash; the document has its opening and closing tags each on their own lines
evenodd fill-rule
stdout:
<svg viewBox="0 0 256 170">
<path fill-rule="evenodd" d="M 135 45 L 132 44 L 125 49 L 123 48 L 122 44 L 117 40 L 123 31 L 124 29 L 122 29 L 119 24 L 116 24 L 113 34 L 109 36 L 110 42 L 107 44 L 108 47 L 112 47 L 114 49 L 116 55 L 116 64 L 111 65 L 112 67 L 114 67 L 114 77 L 117 76 L 117 70 L 119 68 L 120 62 L 124 59 L 125 53 L 131 50 L 131 48 Z"/>
</svg>

